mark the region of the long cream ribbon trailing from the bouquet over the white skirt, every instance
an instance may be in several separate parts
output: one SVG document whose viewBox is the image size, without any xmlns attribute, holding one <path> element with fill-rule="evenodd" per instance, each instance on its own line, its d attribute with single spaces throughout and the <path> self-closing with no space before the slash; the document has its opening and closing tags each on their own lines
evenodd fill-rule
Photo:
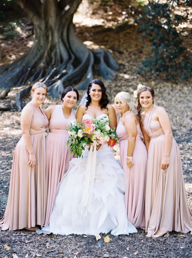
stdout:
<svg viewBox="0 0 192 258">
<path fill-rule="evenodd" d="M 93 182 L 95 176 L 95 168 L 96 168 L 96 145 L 93 146 L 91 144 L 88 159 L 87 159 L 87 167 L 85 172 L 85 179 L 82 185 L 82 202 L 81 202 L 81 219 L 84 216 L 87 216 L 87 212 L 91 210 L 91 199 Z"/>
</svg>

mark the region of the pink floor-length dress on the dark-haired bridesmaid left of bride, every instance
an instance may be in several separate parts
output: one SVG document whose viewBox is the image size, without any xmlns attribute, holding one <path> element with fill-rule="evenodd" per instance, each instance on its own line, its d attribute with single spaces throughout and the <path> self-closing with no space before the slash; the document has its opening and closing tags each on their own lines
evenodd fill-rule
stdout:
<svg viewBox="0 0 192 258">
<path fill-rule="evenodd" d="M 62 105 L 57 105 L 49 120 L 49 133 L 46 142 L 46 213 L 45 227 L 49 224 L 49 218 L 53 209 L 56 196 L 56 188 L 63 174 L 69 168 L 70 146 L 66 146 L 69 139 L 68 131 L 65 130 L 75 119 L 76 112 L 72 109 L 69 118 L 63 115 Z"/>
</svg>

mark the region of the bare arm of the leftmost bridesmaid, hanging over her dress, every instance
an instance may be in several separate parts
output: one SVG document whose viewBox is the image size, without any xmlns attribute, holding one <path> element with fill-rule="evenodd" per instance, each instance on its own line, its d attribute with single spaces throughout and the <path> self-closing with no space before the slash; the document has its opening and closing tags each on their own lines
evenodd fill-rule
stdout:
<svg viewBox="0 0 192 258">
<path fill-rule="evenodd" d="M 36 157 L 35 157 L 34 149 L 31 142 L 31 136 L 29 134 L 32 117 L 33 117 L 33 111 L 28 107 L 23 108 L 21 112 L 21 132 L 22 132 L 27 150 L 29 151 L 28 164 L 30 167 L 34 167 L 36 164 Z"/>
</svg>

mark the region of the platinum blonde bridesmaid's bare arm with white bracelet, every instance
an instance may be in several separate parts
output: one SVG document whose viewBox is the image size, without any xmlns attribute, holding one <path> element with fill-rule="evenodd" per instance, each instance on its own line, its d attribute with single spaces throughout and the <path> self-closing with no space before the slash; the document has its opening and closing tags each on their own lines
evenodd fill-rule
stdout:
<svg viewBox="0 0 192 258">
<path fill-rule="evenodd" d="M 123 119 L 126 132 L 129 136 L 128 139 L 128 149 L 127 149 L 127 156 L 131 157 L 133 156 L 133 151 L 135 149 L 135 142 L 136 142 L 136 136 L 137 136 L 137 125 L 136 125 L 136 117 L 132 113 L 128 113 L 124 119 Z M 128 168 L 131 168 L 134 164 L 132 162 L 132 159 L 127 159 L 127 166 Z"/>
</svg>

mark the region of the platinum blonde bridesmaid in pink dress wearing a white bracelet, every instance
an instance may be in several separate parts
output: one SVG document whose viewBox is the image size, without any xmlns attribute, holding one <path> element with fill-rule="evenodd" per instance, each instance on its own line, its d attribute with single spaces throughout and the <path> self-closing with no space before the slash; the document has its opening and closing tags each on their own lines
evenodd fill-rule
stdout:
<svg viewBox="0 0 192 258">
<path fill-rule="evenodd" d="M 115 109 L 121 114 L 119 136 L 120 161 L 126 173 L 125 207 L 128 220 L 136 228 L 145 227 L 145 184 L 147 150 L 140 136 L 134 105 L 127 92 L 115 96 Z"/>
</svg>

